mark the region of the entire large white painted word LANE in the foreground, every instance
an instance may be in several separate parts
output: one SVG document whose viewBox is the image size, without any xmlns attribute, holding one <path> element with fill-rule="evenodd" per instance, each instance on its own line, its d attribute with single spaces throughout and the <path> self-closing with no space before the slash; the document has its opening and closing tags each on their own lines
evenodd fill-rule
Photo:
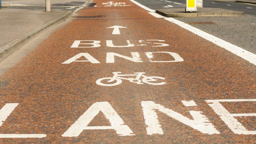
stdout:
<svg viewBox="0 0 256 144">
<path fill-rule="evenodd" d="M 197 106 L 194 100 L 181 101 L 184 106 Z M 255 135 L 256 131 L 246 129 L 235 117 L 252 117 L 256 116 L 256 113 L 230 113 L 221 104 L 222 102 L 256 102 L 256 99 L 211 99 L 205 100 L 205 102 L 214 110 L 214 112 L 220 116 L 221 120 L 238 135 Z M 127 104 L 129 105 L 129 104 Z M 4 121 L 12 113 L 12 111 L 18 106 L 18 103 L 7 103 L 0 110 L 0 127 L 4 124 Z M 21 107 L 20 107 L 21 108 Z M 189 111 L 192 119 L 172 110 L 168 109 L 161 104 L 157 104 L 153 101 L 141 101 L 141 110 L 144 118 L 144 122 L 147 125 L 146 134 L 164 134 L 162 125 L 159 122 L 158 114 L 156 111 L 160 111 L 167 116 L 183 123 L 195 129 L 202 134 L 221 134 L 220 131 L 212 124 L 212 122 L 203 115 L 203 111 Z M 186 109 L 184 109 L 186 111 Z M 105 118 L 110 122 L 110 126 L 88 126 L 91 121 L 102 112 Z M 96 102 L 93 103 L 61 136 L 62 137 L 78 137 L 83 131 L 87 130 L 115 130 L 119 136 L 134 136 L 136 135 L 128 125 L 125 125 L 125 121 L 120 117 L 118 112 L 110 105 L 109 102 Z M 225 133 L 225 132 L 224 132 Z M 0 138 L 43 138 L 46 134 L 0 134 Z"/>
</svg>

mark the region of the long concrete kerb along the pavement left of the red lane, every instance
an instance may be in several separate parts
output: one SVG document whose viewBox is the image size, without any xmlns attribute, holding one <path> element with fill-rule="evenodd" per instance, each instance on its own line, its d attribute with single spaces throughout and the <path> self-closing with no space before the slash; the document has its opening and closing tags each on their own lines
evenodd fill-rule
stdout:
<svg viewBox="0 0 256 144">
<path fill-rule="evenodd" d="M 40 34 L 45 29 L 49 28 L 50 26 L 64 22 L 71 15 L 72 15 L 72 11 L 69 11 L 69 12 L 61 15 L 60 17 L 58 17 L 54 20 L 51 20 L 50 22 L 48 22 L 44 25 L 41 25 L 40 27 L 30 31 L 29 33 L 20 36 L 18 39 L 15 39 L 15 40 L 9 42 L 8 44 L 0 47 L 0 61 L 2 61 L 3 59 L 5 59 L 9 55 L 11 55 L 13 52 L 18 50 L 23 45 L 25 45 L 28 41 L 32 40 L 35 36 Z"/>
</svg>

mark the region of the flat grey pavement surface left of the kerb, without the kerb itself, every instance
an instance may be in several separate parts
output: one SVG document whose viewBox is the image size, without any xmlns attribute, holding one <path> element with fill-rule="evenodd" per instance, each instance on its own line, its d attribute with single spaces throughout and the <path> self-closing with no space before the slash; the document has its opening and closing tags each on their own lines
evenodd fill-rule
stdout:
<svg viewBox="0 0 256 144">
<path fill-rule="evenodd" d="M 0 10 L 0 47 L 66 12 L 2 8 Z"/>
</svg>

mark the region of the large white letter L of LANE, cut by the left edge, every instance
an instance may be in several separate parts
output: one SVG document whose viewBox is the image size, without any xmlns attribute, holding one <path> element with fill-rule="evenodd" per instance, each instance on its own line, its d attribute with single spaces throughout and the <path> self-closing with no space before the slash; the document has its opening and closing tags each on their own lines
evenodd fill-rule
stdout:
<svg viewBox="0 0 256 144">
<path fill-rule="evenodd" d="M 12 113 L 12 111 L 18 106 L 19 103 L 5 104 L 0 110 L 0 126 Z M 45 134 L 0 134 L 0 138 L 42 138 L 46 137 Z"/>
</svg>

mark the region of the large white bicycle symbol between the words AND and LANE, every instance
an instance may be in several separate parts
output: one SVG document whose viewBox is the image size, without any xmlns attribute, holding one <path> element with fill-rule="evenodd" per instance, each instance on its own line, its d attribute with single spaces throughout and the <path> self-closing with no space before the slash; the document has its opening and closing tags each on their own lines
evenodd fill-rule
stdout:
<svg viewBox="0 0 256 144">
<path fill-rule="evenodd" d="M 147 76 L 144 76 L 142 74 L 144 74 L 145 72 L 135 72 L 134 74 L 119 74 L 121 72 L 113 72 L 114 76 L 113 77 L 104 77 L 104 78 L 100 78 L 96 81 L 96 84 L 100 85 L 100 86 L 116 86 L 120 83 L 122 83 L 122 79 L 125 79 L 125 80 L 128 80 L 132 83 L 137 83 L 137 84 L 143 84 L 143 83 L 147 83 L 147 84 L 153 84 L 153 85 L 162 85 L 162 84 L 165 84 L 166 82 L 161 82 L 161 83 L 151 83 L 153 81 L 157 81 L 156 79 L 165 79 L 163 77 L 155 77 L 155 76 L 151 76 L 151 77 L 147 77 Z M 135 78 L 123 78 L 121 76 L 136 76 Z M 140 77 L 143 77 L 142 80 L 140 80 Z M 109 79 L 109 81 L 107 82 L 113 82 L 116 80 L 115 83 L 112 83 L 112 84 L 105 84 L 105 83 L 102 83 L 101 81 L 102 80 L 107 80 Z M 141 81 L 143 83 L 141 83 Z"/>
</svg>

